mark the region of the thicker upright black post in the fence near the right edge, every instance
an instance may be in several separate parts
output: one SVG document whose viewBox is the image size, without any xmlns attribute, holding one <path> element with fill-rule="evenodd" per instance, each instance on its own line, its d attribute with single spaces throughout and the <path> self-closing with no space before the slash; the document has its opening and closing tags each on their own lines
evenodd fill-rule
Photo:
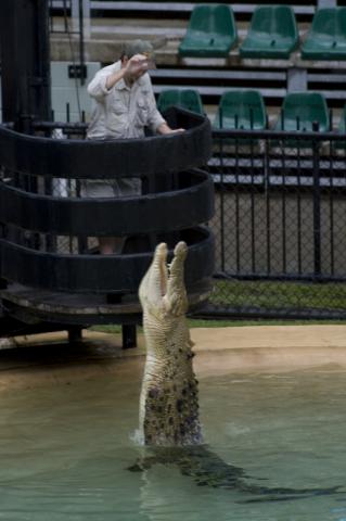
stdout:
<svg viewBox="0 0 346 521">
<path fill-rule="evenodd" d="M 318 122 L 312 123 L 312 130 L 319 131 Z M 312 205 L 313 205 L 313 275 L 321 275 L 321 188 L 319 165 L 319 141 L 312 140 Z"/>
</svg>

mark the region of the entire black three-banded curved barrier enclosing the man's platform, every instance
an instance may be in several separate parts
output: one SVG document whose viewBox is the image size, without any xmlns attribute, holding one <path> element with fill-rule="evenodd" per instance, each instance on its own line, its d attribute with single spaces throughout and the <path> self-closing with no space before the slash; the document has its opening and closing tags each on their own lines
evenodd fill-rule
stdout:
<svg viewBox="0 0 346 521">
<path fill-rule="evenodd" d="M 189 246 L 187 284 L 214 271 L 214 213 L 206 118 L 172 109 L 181 134 L 117 141 L 59 140 L 0 127 L 0 276 L 57 292 L 137 291 L 157 242 Z M 86 198 L 85 180 L 141 179 L 130 198 Z M 60 187 L 63 187 L 60 189 Z M 121 255 L 90 238 L 126 237 Z"/>
</svg>

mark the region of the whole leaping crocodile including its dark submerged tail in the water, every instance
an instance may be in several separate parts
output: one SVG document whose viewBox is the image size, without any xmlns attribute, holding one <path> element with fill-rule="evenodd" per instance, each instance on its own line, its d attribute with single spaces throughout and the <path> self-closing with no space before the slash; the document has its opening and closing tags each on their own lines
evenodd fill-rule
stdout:
<svg viewBox="0 0 346 521">
<path fill-rule="evenodd" d="M 179 242 L 167 264 L 167 245 L 158 244 L 140 283 L 146 358 L 139 431 L 144 447 L 128 470 L 148 473 L 155 465 L 176 466 L 198 486 L 247 493 L 251 498 L 246 503 L 338 493 L 338 486 L 287 488 L 252 484 L 243 469 L 225 462 L 205 444 L 198 415 L 198 382 L 192 365 L 193 342 L 185 317 L 187 253 L 187 244 Z"/>
</svg>

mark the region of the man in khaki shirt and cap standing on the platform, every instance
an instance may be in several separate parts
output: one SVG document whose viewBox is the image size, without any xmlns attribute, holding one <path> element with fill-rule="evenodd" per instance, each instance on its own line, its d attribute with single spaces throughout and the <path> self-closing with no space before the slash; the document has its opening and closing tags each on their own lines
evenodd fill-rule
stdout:
<svg viewBox="0 0 346 521">
<path fill-rule="evenodd" d="M 172 134 L 157 111 L 148 71 L 154 65 L 154 50 L 149 41 L 134 40 L 125 46 L 119 61 L 97 73 L 88 86 L 95 100 L 88 139 L 143 138 L 149 127 L 154 134 Z M 87 196 L 125 196 L 139 194 L 140 179 L 92 180 L 85 183 Z M 100 253 L 120 253 L 124 238 L 100 238 Z"/>
</svg>

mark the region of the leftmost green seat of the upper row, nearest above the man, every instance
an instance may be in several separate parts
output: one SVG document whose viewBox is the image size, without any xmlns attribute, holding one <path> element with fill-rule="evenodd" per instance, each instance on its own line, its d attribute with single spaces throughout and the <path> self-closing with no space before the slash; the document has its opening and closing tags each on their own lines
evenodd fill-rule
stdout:
<svg viewBox="0 0 346 521">
<path fill-rule="evenodd" d="M 181 56 L 226 58 L 236 43 L 233 11 L 226 4 L 196 5 L 179 46 Z"/>
</svg>

